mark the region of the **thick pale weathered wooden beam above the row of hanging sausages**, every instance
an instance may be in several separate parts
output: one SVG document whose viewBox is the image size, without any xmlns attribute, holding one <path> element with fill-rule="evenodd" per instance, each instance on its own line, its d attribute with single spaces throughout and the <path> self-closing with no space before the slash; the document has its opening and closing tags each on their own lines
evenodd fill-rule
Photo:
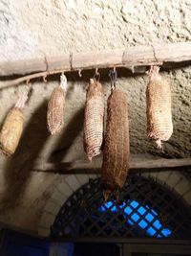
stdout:
<svg viewBox="0 0 191 256">
<path fill-rule="evenodd" d="M 0 62 L 0 76 L 36 72 L 73 71 L 113 66 L 141 66 L 162 62 L 191 60 L 191 43 L 179 42 L 90 53 L 64 54 L 59 57 Z M 60 71 L 60 72 L 61 72 Z"/>
</svg>

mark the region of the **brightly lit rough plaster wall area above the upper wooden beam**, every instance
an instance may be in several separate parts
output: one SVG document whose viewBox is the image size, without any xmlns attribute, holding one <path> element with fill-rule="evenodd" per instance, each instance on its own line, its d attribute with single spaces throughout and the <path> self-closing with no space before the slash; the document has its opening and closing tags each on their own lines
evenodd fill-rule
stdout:
<svg viewBox="0 0 191 256">
<path fill-rule="evenodd" d="M 4 58 L 191 39 L 189 0 L 1 0 L 1 6 L 3 42 L 10 42 Z"/>
</svg>

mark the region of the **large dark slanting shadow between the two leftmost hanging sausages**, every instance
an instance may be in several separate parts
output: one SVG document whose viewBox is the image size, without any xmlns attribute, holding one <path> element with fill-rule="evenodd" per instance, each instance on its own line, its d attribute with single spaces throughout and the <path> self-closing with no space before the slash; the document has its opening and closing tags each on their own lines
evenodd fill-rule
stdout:
<svg viewBox="0 0 191 256">
<path fill-rule="evenodd" d="M 32 175 L 30 170 L 49 136 L 47 127 L 44 125 L 46 112 L 47 102 L 43 102 L 33 113 L 24 129 L 17 151 L 5 166 L 5 192 L 1 199 L 1 213 L 15 207 L 28 186 Z"/>
</svg>

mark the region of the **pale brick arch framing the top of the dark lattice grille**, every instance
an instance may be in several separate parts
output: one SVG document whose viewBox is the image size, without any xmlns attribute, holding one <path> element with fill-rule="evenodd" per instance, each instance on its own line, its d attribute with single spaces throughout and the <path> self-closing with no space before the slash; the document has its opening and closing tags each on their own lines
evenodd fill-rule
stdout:
<svg viewBox="0 0 191 256">
<path fill-rule="evenodd" d="M 156 172 L 144 174 L 147 177 L 153 177 L 159 183 L 165 184 L 191 206 L 191 184 L 184 175 L 180 172 Z M 64 204 L 64 202 L 73 195 L 73 193 L 82 185 L 86 184 L 90 178 L 96 178 L 97 175 L 67 175 L 63 182 L 58 184 L 54 189 L 52 197 L 47 202 L 41 219 L 38 223 L 38 235 L 42 237 L 50 236 L 50 227 L 55 220 L 55 217 Z"/>
</svg>

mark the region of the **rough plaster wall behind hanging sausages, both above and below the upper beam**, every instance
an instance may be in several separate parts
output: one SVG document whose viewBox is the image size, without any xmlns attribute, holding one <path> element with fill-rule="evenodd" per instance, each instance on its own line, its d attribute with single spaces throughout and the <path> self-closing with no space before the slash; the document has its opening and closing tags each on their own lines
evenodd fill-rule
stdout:
<svg viewBox="0 0 191 256">
<path fill-rule="evenodd" d="M 128 45 L 191 40 L 189 0 L 0 0 L 0 60 L 38 58 L 61 52 L 85 52 Z M 46 106 L 57 76 L 33 83 L 25 109 L 25 130 L 11 159 L 0 156 L 0 221 L 35 230 L 35 224 L 51 197 L 57 175 L 29 172 L 36 161 L 84 159 L 82 148 L 83 108 L 91 74 L 69 77 L 65 129 L 51 137 L 46 128 Z M 190 156 L 191 67 L 162 72 L 172 84 L 174 134 L 164 147 L 167 156 Z M 101 80 L 102 81 L 102 80 Z M 106 99 L 110 92 L 103 79 Z M 121 73 L 118 87 L 127 92 L 130 105 L 132 152 L 162 154 L 146 138 L 145 76 Z M 3 81 L 0 81 L 0 85 Z M 0 121 L 26 87 L 0 91 Z M 15 218 L 18 217 L 18 218 Z"/>
</svg>

